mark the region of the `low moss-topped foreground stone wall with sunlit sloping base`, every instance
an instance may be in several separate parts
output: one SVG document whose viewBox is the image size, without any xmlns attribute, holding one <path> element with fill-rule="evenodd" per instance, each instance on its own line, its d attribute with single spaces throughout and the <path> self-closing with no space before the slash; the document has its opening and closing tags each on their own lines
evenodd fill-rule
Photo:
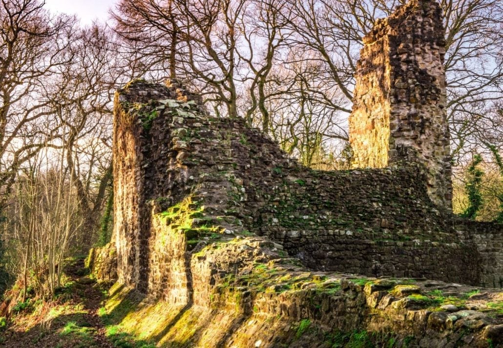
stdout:
<svg viewBox="0 0 503 348">
<path fill-rule="evenodd" d="M 192 303 L 154 302 L 117 284 L 105 311 L 159 347 L 503 345 L 496 289 L 309 272 L 265 237 L 208 245 L 191 269 Z"/>
</svg>

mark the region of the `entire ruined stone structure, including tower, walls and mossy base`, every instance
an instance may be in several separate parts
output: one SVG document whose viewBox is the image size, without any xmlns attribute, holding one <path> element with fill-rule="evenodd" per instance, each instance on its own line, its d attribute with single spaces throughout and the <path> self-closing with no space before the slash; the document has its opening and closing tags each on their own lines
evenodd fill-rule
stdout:
<svg viewBox="0 0 503 348">
<path fill-rule="evenodd" d="M 114 235 L 88 259 L 117 280 L 109 313 L 159 346 L 321 348 L 360 330 L 396 346 L 503 346 L 503 320 L 477 311 L 500 291 L 473 307 L 428 302 L 476 290 L 443 281 L 503 288 L 501 225 L 445 209 L 439 16 L 412 0 L 367 36 L 351 119 L 361 169 L 306 168 L 177 81 L 119 89 Z M 122 300 L 142 302 L 128 314 Z"/>
</svg>

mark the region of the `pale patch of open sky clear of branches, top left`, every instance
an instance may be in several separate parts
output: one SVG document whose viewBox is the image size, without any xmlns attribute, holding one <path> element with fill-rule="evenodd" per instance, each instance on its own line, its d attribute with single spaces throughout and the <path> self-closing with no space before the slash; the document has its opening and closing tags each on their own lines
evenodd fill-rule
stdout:
<svg viewBox="0 0 503 348">
<path fill-rule="evenodd" d="M 46 8 L 52 13 L 77 15 L 83 25 L 91 24 L 98 19 L 105 22 L 108 9 L 118 0 L 45 0 Z"/>
</svg>

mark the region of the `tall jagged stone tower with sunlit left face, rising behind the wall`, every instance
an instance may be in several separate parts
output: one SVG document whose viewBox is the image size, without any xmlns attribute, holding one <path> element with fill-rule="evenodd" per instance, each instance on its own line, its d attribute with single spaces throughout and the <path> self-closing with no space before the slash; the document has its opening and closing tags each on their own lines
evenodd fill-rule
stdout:
<svg viewBox="0 0 503 348">
<path fill-rule="evenodd" d="M 379 20 L 357 64 L 350 142 L 356 167 L 425 166 L 430 198 L 452 209 L 442 13 L 413 0 Z"/>
</svg>

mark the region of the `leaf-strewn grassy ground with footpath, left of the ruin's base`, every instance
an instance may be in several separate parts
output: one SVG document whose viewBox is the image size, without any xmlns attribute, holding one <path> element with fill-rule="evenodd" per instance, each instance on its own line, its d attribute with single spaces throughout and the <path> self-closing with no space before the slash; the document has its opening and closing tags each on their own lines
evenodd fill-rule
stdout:
<svg viewBox="0 0 503 348">
<path fill-rule="evenodd" d="M 0 320 L 0 346 L 153 348 L 102 319 L 107 287 L 97 284 L 83 266 L 83 257 L 70 260 L 64 285 L 52 300 L 13 298 L 11 316 Z"/>
</svg>

